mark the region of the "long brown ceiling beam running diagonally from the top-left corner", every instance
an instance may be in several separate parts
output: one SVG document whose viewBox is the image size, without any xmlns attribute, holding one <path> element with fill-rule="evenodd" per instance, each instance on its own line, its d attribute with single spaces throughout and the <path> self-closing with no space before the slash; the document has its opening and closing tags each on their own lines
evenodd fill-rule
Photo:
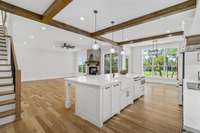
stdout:
<svg viewBox="0 0 200 133">
<path fill-rule="evenodd" d="M 83 35 L 86 37 L 94 38 L 94 39 L 97 39 L 100 41 L 105 41 L 105 42 L 111 43 L 113 45 L 117 44 L 116 42 L 109 40 L 107 38 L 92 37 L 90 32 L 84 31 L 82 29 L 76 28 L 74 26 L 71 26 L 71 25 L 56 21 L 56 20 L 51 19 L 49 21 L 43 21 L 43 15 L 31 12 L 31 11 L 23 9 L 21 7 L 17 7 L 15 5 L 9 4 L 4 1 L 0 1 L 0 10 L 6 11 L 6 12 L 12 13 L 14 15 L 24 17 L 24 18 L 28 18 L 28 19 L 31 19 L 31 20 L 34 20 L 34 21 L 37 21 L 40 23 L 44 23 L 44 24 L 47 24 L 47 25 L 50 25 L 50 26 L 53 26 L 56 28 L 60 28 L 60 29 L 66 30 L 66 31 L 77 33 L 77 34 L 80 34 L 80 35 Z"/>
</svg>

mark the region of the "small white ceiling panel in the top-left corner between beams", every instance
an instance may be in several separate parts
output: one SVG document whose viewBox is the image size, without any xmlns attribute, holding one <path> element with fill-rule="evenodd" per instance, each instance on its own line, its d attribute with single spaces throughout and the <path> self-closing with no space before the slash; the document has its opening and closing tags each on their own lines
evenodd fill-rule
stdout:
<svg viewBox="0 0 200 133">
<path fill-rule="evenodd" d="M 54 0 L 2 0 L 32 12 L 43 14 Z"/>
</svg>

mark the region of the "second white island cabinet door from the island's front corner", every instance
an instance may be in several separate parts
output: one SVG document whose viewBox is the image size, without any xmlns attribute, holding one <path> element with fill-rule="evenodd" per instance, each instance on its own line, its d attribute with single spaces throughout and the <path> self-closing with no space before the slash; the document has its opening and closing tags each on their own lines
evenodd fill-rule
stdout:
<svg viewBox="0 0 200 133">
<path fill-rule="evenodd" d="M 120 84 L 112 86 L 112 115 L 120 111 Z"/>
</svg>

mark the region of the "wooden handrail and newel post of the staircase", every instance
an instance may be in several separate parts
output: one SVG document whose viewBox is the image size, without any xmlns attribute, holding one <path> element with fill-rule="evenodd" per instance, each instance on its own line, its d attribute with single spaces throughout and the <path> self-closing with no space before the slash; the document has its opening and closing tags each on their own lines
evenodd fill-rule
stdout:
<svg viewBox="0 0 200 133">
<path fill-rule="evenodd" d="M 11 53 L 11 69 L 13 74 L 13 83 L 15 88 L 15 99 L 16 99 L 16 120 L 21 119 L 21 70 L 19 69 L 15 47 L 12 36 L 4 35 L 10 40 L 10 53 Z"/>
</svg>

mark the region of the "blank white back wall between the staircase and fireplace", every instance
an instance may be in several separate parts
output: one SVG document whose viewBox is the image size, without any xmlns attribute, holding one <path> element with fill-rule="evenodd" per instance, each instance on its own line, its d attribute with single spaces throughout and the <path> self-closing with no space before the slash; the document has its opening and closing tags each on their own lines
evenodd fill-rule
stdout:
<svg viewBox="0 0 200 133">
<path fill-rule="evenodd" d="M 15 47 L 22 81 L 53 79 L 75 74 L 75 53 Z"/>
</svg>

